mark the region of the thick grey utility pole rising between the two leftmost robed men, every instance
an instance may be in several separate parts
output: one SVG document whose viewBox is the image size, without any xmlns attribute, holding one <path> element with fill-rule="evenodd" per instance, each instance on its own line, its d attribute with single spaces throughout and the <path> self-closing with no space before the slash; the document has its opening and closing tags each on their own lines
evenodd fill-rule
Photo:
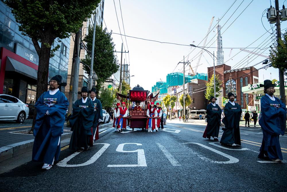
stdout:
<svg viewBox="0 0 287 192">
<path fill-rule="evenodd" d="M 78 94 L 81 34 L 82 34 L 82 27 L 80 27 L 79 31 L 75 34 L 75 44 L 73 50 L 73 61 L 72 61 L 72 71 L 71 71 L 70 90 L 69 90 L 68 115 L 72 113 L 73 103 L 77 100 L 77 94 Z"/>
</svg>

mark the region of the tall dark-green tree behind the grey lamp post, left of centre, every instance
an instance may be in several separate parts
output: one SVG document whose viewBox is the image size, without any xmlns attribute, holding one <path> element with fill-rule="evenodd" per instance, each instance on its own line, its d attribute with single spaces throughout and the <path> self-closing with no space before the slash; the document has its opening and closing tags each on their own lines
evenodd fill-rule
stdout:
<svg viewBox="0 0 287 192">
<path fill-rule="evenodd" d="M 87 43 L 88 54 L 82 59 L 82 62 L 90 66 L 91 53 L 93 44 L 93 30 L 94 26 L 88 27 L 88 35 L 84 38 Z M 107 32 L 107 29 L 102 29 L 101 26 L 96 25 L 96 36 L 95 36 L 95 54 L 94 54 L 94 66 L 93 69 L 98 76 L 96 89 L 100 89 L 103 83 L 119 69 L 117 65 L 117 58 L 114 54 L 115 44 L 111 33 Z M 86 65 L 83 65 L 83 69 L 86 73 L 90 74 L 90 69 Z"/>
</svg>

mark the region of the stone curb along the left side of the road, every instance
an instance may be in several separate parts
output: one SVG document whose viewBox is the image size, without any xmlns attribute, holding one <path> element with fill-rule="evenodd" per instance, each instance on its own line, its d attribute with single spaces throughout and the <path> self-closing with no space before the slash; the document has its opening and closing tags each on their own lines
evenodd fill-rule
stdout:
<svg viewBox="0 0 287 192">
<path fill-rule="evenodd" d="M 113 125 L 113 123 L 106 123 L 106 124 L 101 124 L 99 126 L 100 128 L 105 128 L 110 125 Z M 71 138 L 72 132 L 70 133 L 63 133 L 61 135 L 61 141 L 65 139 Z M 33 144 L 34 144 L 34 139 L 27 140 L 27 141 L 22 141 L 19 143 L 14 143 L 10 144 L 4 147 L 0 148 L 0 162 L 5 161 L 7 159 L 11 159 L 13 157 L 16 157 L 18 155 L 21 155 L 23 153 L 29 152 L 33 150 Z"/>
</svg>

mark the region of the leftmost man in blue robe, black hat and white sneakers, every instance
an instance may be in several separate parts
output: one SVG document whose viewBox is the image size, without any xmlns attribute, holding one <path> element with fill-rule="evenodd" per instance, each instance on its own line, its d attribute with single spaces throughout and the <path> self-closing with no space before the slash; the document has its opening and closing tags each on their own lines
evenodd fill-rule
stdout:
<svg viewBox="0 0 287 192">
<path fill-rule="evenodd" d="M 62 77 L 56 75 L 49 85 L 50 90 L 44 92 L 35 104 L 37 116 L 32 151 L 32 161 L 43 162 L 42 169 L 46 170 L 59 158 L 61 134 L 69 106 L 66 96 L 61 92 L 61 86 L 67 85 L 62 82 Z"/>
</svg>

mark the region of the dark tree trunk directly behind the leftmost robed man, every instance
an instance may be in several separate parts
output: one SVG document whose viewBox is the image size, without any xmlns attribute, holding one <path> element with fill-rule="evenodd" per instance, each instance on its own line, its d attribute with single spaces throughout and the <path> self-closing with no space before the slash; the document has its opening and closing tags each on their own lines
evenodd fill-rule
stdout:
<svg viewBox="0 0 287 192">
<path fill-rule="evenodd" d="M 39 56 L 39 65 L 38 65 L 38 73 L 37 73 L 37 89 L 36 89 L 36 101 L 38 98 L 48 89 L 48 74 L 49 74 L 49 60 L 51 55 L 51 46 L 46 47 L 44 43 L 49 43 L 49 45 L 52 45 L 53 40 L 45 39 L 45 41 L 42 41 L 41 48 L 39 45 L 37 46 L 38 42 L 33 40 L 35 49 Z M 35 45 L 35 43 L 37 43 Z M 34 115 L 33 115 L 33 123 L 32 128 L 30 130 L 30 133 L 34 131 L 34 126 L 36 123 L 36 116 L 37 111 L 35 108 Z"/>
</svg>

